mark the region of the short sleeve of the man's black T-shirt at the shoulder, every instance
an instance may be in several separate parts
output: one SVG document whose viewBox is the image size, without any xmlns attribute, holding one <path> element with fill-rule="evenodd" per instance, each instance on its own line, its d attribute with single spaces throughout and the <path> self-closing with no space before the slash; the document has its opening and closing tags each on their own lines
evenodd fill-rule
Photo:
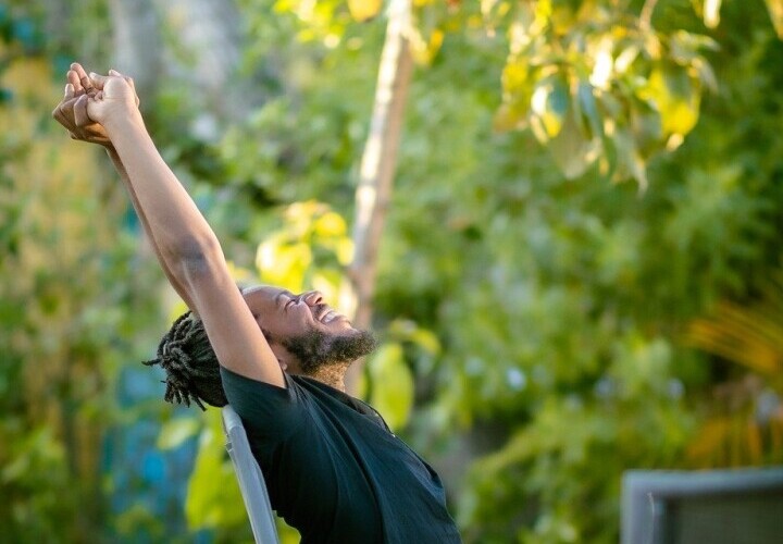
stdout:
<svg viewBox="0 0 783 544">
<path fill-rule="evenodd" d="M 271 442 L 283 441 L 308 417 L 300 386 L 285 372 L 287 387 L 284 388 L 224 367 L 220 370 L 228 404 L 252 434 Z"/>
</svg>

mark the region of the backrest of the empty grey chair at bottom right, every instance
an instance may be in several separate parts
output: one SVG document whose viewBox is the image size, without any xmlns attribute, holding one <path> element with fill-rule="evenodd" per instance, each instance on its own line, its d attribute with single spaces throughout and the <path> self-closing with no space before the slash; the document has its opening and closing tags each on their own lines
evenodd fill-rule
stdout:
<svg viewBox="0 0 783 544">
<path fill-rule="evenodd" d="M 621 544 L 783 543 L 783 467 L 632 470 Z"/>
</svg>

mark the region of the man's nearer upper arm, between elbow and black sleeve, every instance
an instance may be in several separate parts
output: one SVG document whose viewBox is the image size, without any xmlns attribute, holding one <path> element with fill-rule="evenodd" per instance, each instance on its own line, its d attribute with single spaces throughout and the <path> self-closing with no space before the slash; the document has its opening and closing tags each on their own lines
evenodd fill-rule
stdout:
<svg viewBox="0 0 783 544">
<path fill-rule="evenodd" d="M 246 378 L 285 387 L 277 358 L 231 277 L 220 248 L 187 259 L 183 276 L 220 363 Z"/>
</svg>

